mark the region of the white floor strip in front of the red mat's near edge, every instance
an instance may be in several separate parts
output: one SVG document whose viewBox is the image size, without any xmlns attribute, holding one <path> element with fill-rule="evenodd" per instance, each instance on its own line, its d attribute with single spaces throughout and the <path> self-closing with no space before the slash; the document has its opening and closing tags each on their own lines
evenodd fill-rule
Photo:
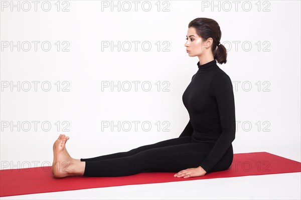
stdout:
<svg viewBox="0 0 301 200">
<path fill-rule="evenodd" d="M 1 199 L 301 199 L 301 172 L 124 185 Z"/>
</svg>

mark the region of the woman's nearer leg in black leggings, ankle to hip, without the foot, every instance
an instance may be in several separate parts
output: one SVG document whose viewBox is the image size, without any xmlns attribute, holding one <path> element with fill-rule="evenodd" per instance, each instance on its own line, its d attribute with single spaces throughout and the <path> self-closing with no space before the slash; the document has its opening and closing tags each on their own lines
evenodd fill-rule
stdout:
<svg viewBox="0 0 301 200">
<path fill-rule="evenodd" d="M 125 176 L 144 170 L 179 172 L 198 167 L 214 144 L 183 143 L 149 148 L 133 155 L 85 161 L 84 176 Z M 228 156 L 226 156 L 228 159 Z M 223 159 L 223 158 L 222 158 Z"/>
</svg>

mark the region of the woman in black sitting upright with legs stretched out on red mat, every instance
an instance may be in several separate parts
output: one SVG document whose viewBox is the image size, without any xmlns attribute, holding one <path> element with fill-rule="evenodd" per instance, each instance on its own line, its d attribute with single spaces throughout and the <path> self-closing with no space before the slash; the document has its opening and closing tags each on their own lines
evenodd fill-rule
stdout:
<svg viewBox="0 0 301 200">
<path fill-rule="evenodd" d="M 221 30 L 210 18 L 188 25 L 186 50 L 198 56 L 198 70 L 183 93 L 190 120 L 179 137 L 92 158 L 72 158 L 64 134 L 54 142 L 55 177 L 124 176 L 145 171 L 177 172 L 175 177 L 202 176 L 226 170 L 233 161 L 235 106 L 230 77 L 218 67 L 227 62 Z"/>
</svg>

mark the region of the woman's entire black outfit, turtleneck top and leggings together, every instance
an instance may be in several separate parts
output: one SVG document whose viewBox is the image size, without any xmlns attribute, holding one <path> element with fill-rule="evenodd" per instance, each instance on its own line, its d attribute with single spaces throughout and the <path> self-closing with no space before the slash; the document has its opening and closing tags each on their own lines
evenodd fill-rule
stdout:
<svg viewBox="0 0 301 200">
<path fill-rule="evenodd" d="M 235 105 L 230 77 L 212 60 L 200 65 L 183 93 L 190 120 L 179 137 L 85 161 L 84 176 L 124 176 L 146 171 L 179 172 L 201 166 L 207 173 L 233 161 Z"/>
</svg>

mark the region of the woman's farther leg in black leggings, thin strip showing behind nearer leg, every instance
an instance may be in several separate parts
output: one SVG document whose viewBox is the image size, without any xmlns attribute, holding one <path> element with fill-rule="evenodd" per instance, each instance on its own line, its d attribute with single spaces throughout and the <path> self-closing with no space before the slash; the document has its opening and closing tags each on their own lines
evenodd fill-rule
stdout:
<svg viewBox="0 0 301 200">
<path fill-rule="evenodd" d="M 112 158 L 117 158 L 117 157 L 125 157 L 125 156 L 134 155 L 140 151 L 147 150 L 150 148 L 178 145 L 178 144 L 183 144 L 183 143 L 191 143 L 191 136 L 183 136 L 183 137 L 167 139 L 167 140 L 159 141 L 157 143 L 139 146 L 137 148 L 133 148 L 126 152 L 117 152 L 117 153 L 112 153 L 112 154 L 107 154 L 107 155 L 100 155 L 100 156 L 92 157 L 92 158 L 81 158 L 80 161 L 97 161 L 97 160 L 112 159 Z"/>
</svg>

